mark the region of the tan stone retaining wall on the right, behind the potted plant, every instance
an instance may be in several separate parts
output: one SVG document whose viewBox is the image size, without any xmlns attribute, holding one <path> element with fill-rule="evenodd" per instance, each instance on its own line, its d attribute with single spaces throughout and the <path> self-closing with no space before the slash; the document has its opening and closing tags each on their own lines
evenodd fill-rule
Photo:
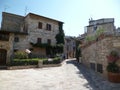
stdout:
<svg viewBox="0 0 120 90">
<path fill-rule="evenodd" d="M 99 72 L 97 71 L 97 64 L 102 65 L 103 72 L 100 74 L 107 77 L 106 66 L 108 62 L 106 56 L 114 49 L 120 52 L 119 36 L 104 37 L 102 40 L 84 45 L 84 47 L 82 47 L 82 63 L 89 68 L 92 68 L 91 63 L 95 64 L 96 72 Z"/>
</svg>

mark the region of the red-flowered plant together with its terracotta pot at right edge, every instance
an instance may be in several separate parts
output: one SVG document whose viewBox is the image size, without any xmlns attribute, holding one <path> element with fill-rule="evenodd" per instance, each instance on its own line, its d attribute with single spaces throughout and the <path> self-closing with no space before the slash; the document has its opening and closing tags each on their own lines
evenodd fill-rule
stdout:
<svg viewBox="0 0 120 90">
<path fill-rule="evenodd" d="M 120 70 L 117 65 L 117 61 L 119 60 L 119 54 L 117 51 L 111 51 L 107 56 L 108 65 L 108 80 L 115 83 L 120 83 Z"/>
</svg>

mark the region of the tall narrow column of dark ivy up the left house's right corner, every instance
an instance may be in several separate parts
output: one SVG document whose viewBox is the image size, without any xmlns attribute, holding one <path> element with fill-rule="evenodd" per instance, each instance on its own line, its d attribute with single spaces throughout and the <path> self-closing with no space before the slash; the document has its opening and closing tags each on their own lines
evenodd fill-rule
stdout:
<svg viewBox="0 0 120 90">
<path fill-rule="evenodd" d="M 55 37 L 57 44 L 64 44 L 65 34 L 64 34 L 62 27 L 63 27 L 63 23 L 59 22 L 59 33 Z"/>
</svg>

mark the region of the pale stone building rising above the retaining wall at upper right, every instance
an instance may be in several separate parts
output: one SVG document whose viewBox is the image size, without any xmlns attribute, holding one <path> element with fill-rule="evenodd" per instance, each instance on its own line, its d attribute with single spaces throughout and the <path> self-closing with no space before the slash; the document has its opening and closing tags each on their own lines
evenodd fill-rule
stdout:
<svg viewBox="0 0 120 90">
<path fill-rule="evenodd" d="M 87 26 L 87 36 L 95 35 L 99 29 L 103 29 L 105 33 L 114 33 L 114 19 L 90 20 L 89 25 Z"/>
</svg>

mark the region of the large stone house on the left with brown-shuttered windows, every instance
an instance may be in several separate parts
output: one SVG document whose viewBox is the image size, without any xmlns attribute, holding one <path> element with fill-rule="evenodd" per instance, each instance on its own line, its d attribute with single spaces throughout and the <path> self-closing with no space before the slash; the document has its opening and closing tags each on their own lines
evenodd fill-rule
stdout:
<svg viewBox="0 0 120 90">
<path fill-rule="evenodd" d="M 0 37 L 2 37 L 0 38 L 0 62 L 4 61 L 6 64 L 10 62 L 14 52 L 26 49 L 37 56 L 52 54 L 51 49 L 45 46 L 56 46 L 55 37 L 62 27 L 63 22 L 37 14 L 29 13 L 20 16 L 3 12 L 0 30 Z"/>
</svg>

